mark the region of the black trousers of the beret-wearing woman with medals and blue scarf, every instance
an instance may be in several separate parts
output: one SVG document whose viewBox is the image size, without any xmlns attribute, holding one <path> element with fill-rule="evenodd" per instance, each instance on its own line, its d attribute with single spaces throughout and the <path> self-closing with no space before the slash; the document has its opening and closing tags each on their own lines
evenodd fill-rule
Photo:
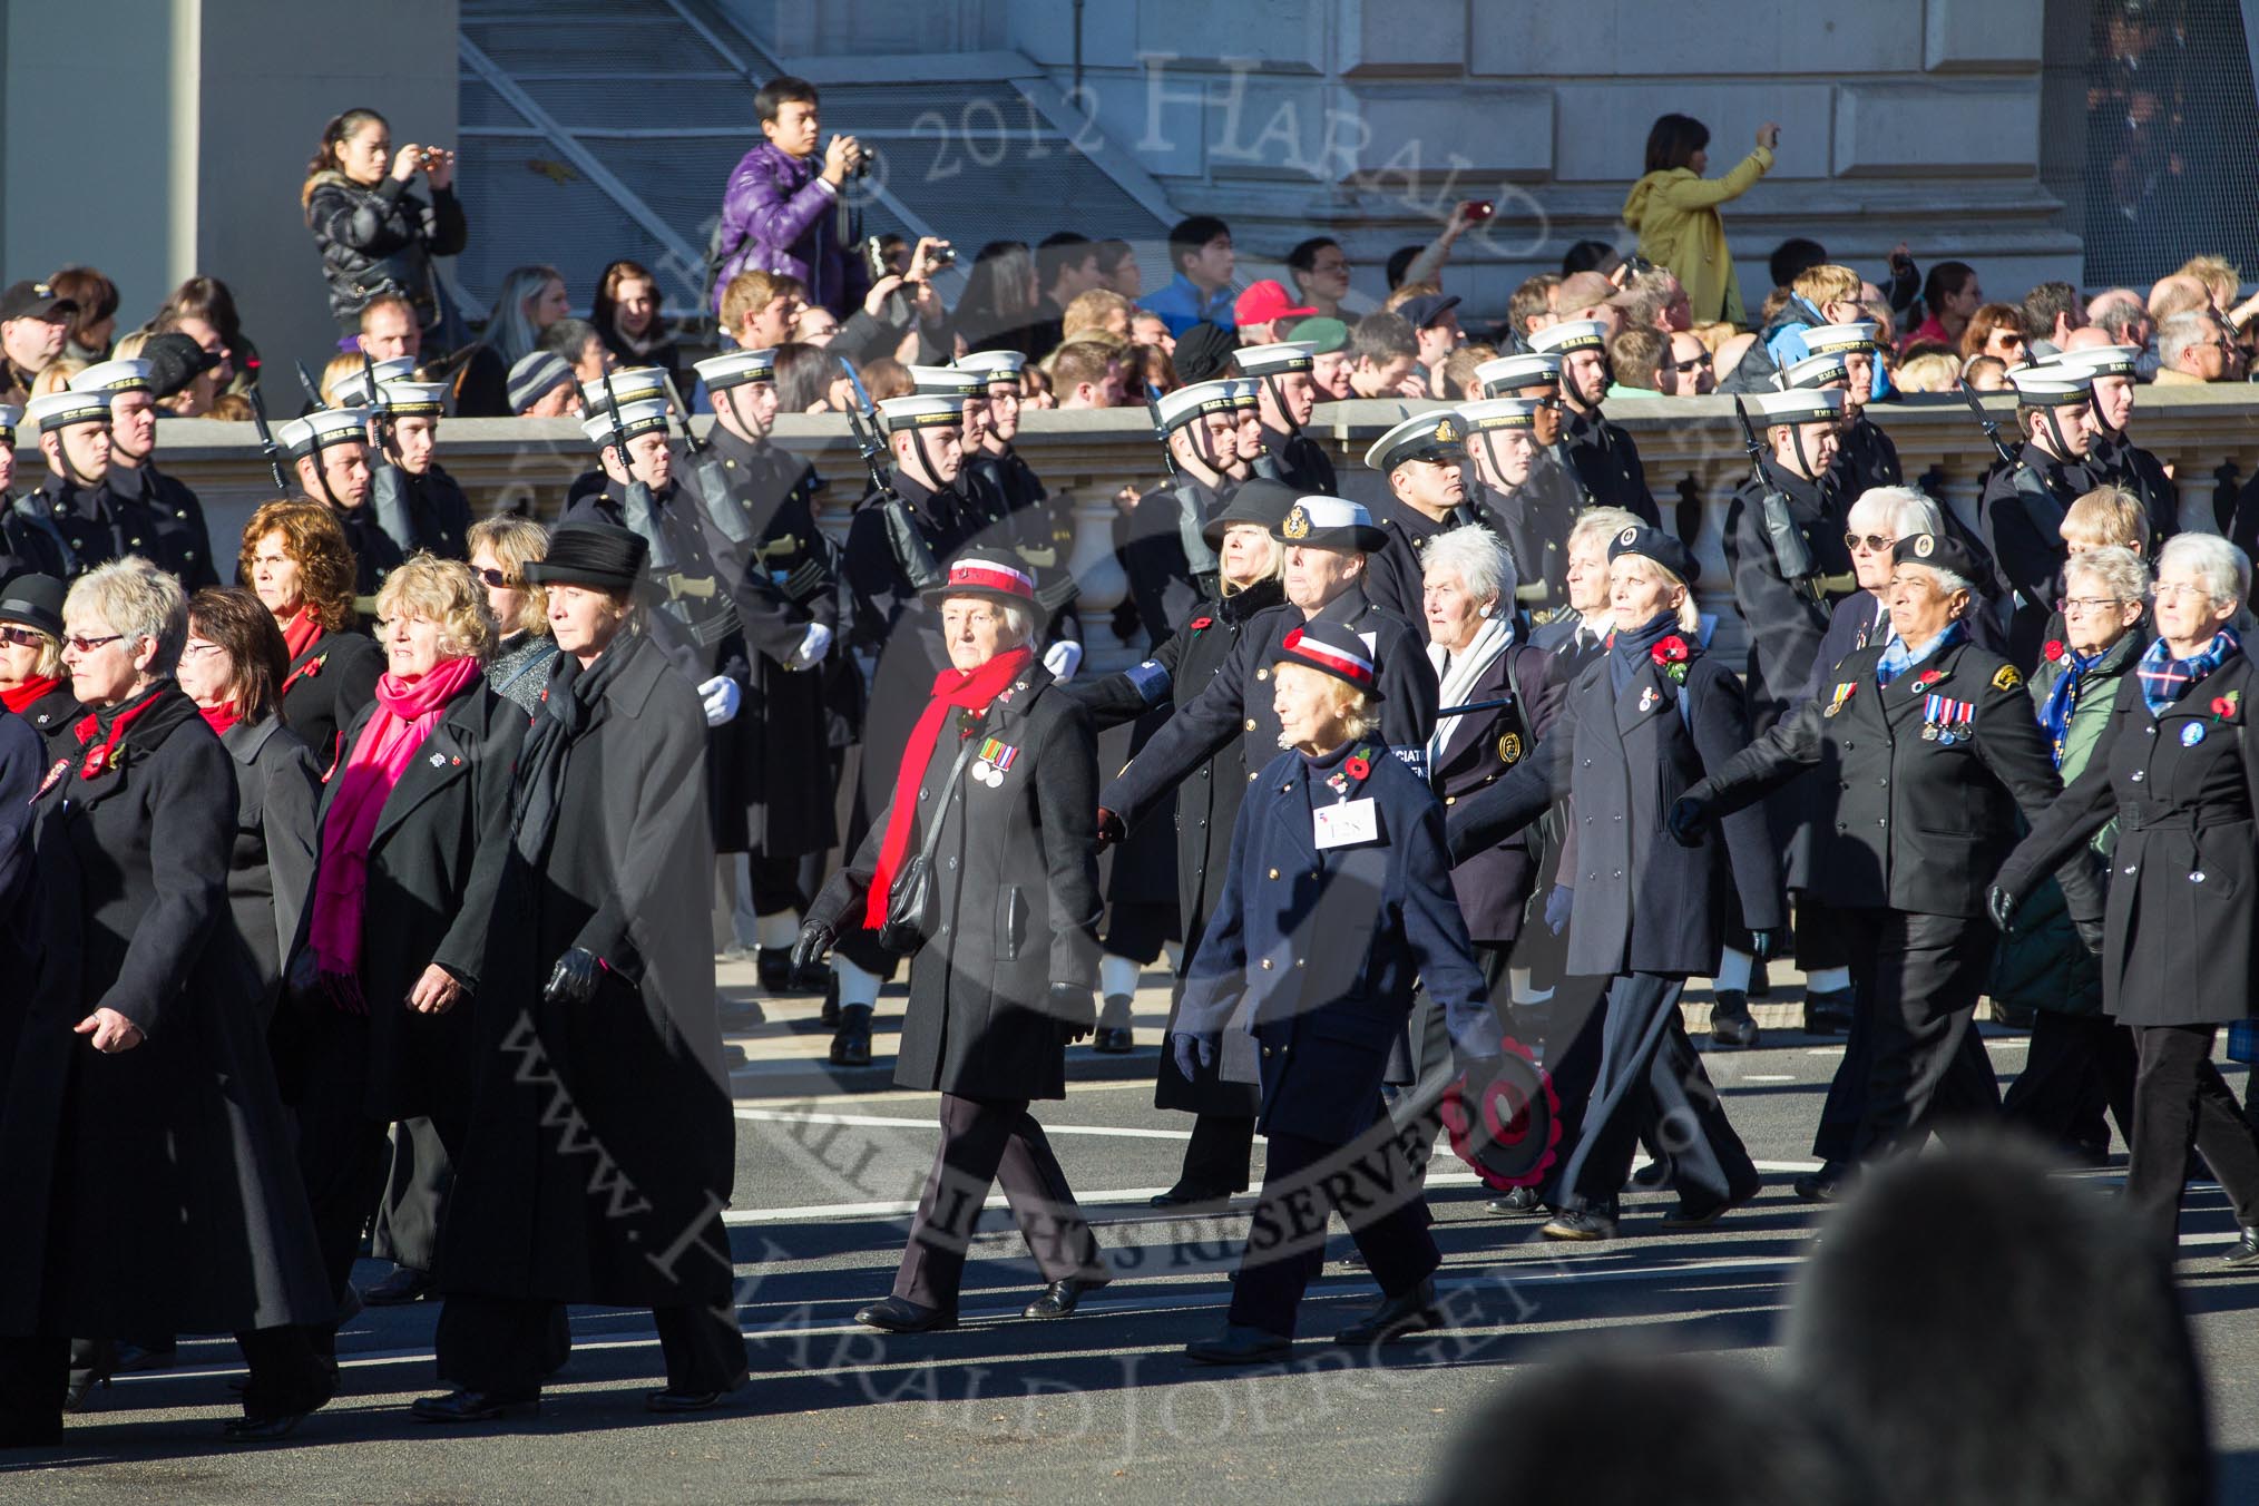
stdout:
<svg viewBox="0 0 2259 1506">
<path fill-rule="evenodd" d="M 1834 910 L 1857 996 L 1814 1154 L 1830 1165 L 1920 1149 L 1954 1118 L 1995 1118 L 1999 1084 L 1977 1039 L 1992 928 L 1963 914 Z"/>
</svg>

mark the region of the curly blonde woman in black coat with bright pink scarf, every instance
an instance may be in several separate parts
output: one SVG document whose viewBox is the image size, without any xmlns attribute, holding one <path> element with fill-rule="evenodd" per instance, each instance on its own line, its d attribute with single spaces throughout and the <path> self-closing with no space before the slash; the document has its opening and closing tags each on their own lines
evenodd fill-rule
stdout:
<svg viewBox="0 0 2259 1506">
<path fill-rule="evenodd" d="M 488 910 L 508 851 L 526 713 L 495 695 L 486 594 L 468 564 L 416 555 L 377 594 L 386 673 L 343 734 L 291 998 L 276 1021 L 298 1102 L 298 1163 L 343 1303 L 386 1170 L 386 1124 L 470 1115 Z"/>
</svg>

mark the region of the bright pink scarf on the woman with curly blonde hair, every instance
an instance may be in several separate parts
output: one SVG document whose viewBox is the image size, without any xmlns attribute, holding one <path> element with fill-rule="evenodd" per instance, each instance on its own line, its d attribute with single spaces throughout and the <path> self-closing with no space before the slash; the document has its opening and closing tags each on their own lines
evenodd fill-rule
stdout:
<svg viewBox="0 0 2259 1506">
<path fill-rule="evenodd" d="M 321 872 L 314 876 L 314 964 L 339 1009 L 368 1014 L 361 998 L 361 901 L 368 842 L 384 802 L 447 704 L 479 684 L 477 659 L 443 659 L 416 684 L 377 680 L 377 709 L 337 772 L 337 795 L 321 820 Z"/>
</svg>

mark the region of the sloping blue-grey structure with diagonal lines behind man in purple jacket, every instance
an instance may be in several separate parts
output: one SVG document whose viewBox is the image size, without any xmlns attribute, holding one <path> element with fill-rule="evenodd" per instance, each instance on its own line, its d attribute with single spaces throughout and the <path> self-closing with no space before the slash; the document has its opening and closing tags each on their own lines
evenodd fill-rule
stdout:
<svg viewBox="0 0 2259 1506">
<path fill-rule="evenodd" d="M 549 262 L 576 307 L 617 257 L 653 269 L 671 316 L 698 300 L 730 169 L 761 138 L 752 95 L 791 72 L 705 0 L 463 0 L 461 192 L 470 248 L 454 278 L 483 309 L 511 266 Z M 822 84 L 825 129 L 879 149 L 854 185 L 865 235 L 989 239 L 1053 230 L 1157 246 L 1172 217 L 1134 169 L 1075 145 L 1093 126 L 1023 79 Z M 1154 257 L 1166 260 L 1166 257 Z"/>
</svg>

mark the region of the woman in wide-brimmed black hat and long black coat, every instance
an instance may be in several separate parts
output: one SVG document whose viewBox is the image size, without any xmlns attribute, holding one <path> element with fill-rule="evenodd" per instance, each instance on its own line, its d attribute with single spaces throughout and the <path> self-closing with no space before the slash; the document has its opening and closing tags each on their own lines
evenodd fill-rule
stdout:
<svg viewBox="0 0 2259 1506">
<path fill-rule="evenodd" d="M 427 1422 L 540 1402 L 567 1303 L 648 1307 L 651 1411 L 745 1382 L 721 1215 L 736 1120 L 714 1012 L 698 693 L 642 630 L 646 544 L 560 524 L 526 580 L 558 643 L 526 734 L 477 1000 L 477 1088 L 441 1231 Z M 481 917 L 486 919 L 486 917 Z"/>
</svg>

